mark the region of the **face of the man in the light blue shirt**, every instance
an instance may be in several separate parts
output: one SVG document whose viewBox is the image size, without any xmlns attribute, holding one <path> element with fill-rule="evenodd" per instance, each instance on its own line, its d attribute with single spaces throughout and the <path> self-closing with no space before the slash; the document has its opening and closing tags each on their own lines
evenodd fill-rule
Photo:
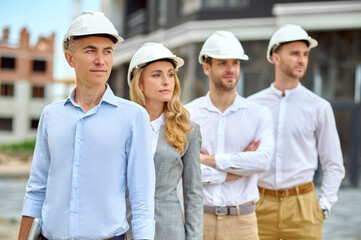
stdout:
<svg viewBox="0 0 361 240">
<path fill-rule="evenodd" d="M 89 36 L 75 40 L 65 57 L 74 68 L 77 84 L 104 86 L 112 70 L 114 43 L 106 37 Z"/>
</svg>

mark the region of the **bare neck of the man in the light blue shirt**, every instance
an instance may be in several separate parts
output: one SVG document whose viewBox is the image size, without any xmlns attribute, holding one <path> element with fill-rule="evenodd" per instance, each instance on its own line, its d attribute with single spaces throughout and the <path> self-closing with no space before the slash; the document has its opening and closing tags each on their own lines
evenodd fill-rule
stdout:
<svg viewBox="0 0 361 240">
<path fill-rule="evenodd" d="M 99 104 L 106 90 L 106 85 L 98 88 L 86 88 L 77 85 L 75 89 L 74 101 L 84 110 L 88 112 L 90 109 Z"/>
</svg>

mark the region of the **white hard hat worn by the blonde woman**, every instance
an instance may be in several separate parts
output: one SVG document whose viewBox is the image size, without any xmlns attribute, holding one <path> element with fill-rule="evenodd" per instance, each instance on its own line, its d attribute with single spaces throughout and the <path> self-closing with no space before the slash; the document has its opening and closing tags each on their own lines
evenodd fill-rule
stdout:
<svg viewBox="0 0 361 240">
<path fill-rule="evenodd" d="M 175 70 L 184 65 L 182 58 L 174 55 L 168 48 L 164 47 L 161 43 L 149 42 L 143 44 L 138 51 L 130 60 L 129 69 L 128 69 L 128 84 L 131 85 L 132 78 L 135 72 L 146 65 L 149 62 L 154 62 L 161 59 L 171 59 L 175 64 Z"/>
</svg>

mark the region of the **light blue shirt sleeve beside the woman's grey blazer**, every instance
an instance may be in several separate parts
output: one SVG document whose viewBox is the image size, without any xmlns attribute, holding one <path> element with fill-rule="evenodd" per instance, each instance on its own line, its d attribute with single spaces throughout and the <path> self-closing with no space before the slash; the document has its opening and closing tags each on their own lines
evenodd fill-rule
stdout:
<svg viewBox="0 0 361 240">
<path fill-rule="evenodd" d="M 139 111 L 132 125 L 128 149 L 127 183 L 133 219 L 134 239 L 154 238 L 155 170 L 152 160 L 150 121 Z"/>
</svg>

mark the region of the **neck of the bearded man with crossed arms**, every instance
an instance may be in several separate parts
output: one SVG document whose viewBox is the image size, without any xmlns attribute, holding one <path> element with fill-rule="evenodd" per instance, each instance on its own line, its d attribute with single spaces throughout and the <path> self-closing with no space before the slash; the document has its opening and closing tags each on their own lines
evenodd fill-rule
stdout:
<svg viewBox="0 0 361 240">
<path fill-rule="evenodd" d="M 216 89 L 210 89 L 209 91 L 209 97 L 213 105 L 222 113 L 232 105 L 236 96 L 237 91 L 235 88 L 229 92 L 219 91 Z"/>
</svg>

